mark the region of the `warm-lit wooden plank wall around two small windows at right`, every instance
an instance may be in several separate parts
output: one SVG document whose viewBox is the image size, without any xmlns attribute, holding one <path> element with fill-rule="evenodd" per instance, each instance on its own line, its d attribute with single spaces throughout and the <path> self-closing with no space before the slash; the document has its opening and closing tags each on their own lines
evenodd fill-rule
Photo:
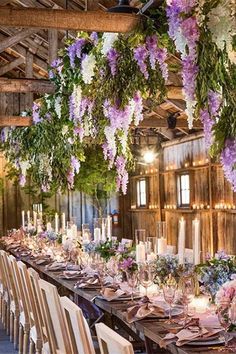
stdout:
<svg viewBox="0 0 236 354">
<path fill-rule="evenodd" d="M 185 171 L 190 173 L 191 180 L 191 202 L 187 209 L 177 207 L 177 175 Z M 135 206 L 135 181 L 143 175 L 149 176 L 151 184 L 149 208 L 145 210 Z M 168 243 L 177 246 L 178 222 L 183 216 L 186 220 L 186 247 L 191 248 L 192 221 L 197 217 L 201 223 L 203 256 L 218 249 L 236 254 L 236 193 L 225 180 L 220 164 L 210 161 L 203 137 L 164 143 L 153 166 L 136 169 L 128 194 L 130 209 L 128 211 L 126 206 L 122 214 L 126 218 L 127 213 L 130 215 L 125 229 L 130 237 L 134 237 L 137 228 L 144 228 L 147 234 L 155 235 L 156 222 L 166 220 Z M 155 205 L 155 209 L 150 205 Z"/>
</svg>

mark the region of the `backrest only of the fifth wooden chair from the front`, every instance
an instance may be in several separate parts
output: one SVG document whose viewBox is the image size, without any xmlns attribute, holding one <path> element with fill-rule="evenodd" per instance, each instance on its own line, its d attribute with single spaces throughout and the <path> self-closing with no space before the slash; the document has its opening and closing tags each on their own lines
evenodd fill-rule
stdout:
<svg viewBox="0 0 236 354">
<path fill-rule="evenodd" d="M 37 303 L 35 302 L 30 275 L 28 273 L 27 266 L 25 265 L 25 263 L 19 261 L 17 262 L 17 265 L 19 268 L 22 286 L 25 293 L 25 300 L 28 308 L 28 313 L 30 314 L 31 327 L 35 326 L 37 338 L 41 339 L 42 330 L 38 319 L 38 312 L 36 310 Z"/>
</svg>

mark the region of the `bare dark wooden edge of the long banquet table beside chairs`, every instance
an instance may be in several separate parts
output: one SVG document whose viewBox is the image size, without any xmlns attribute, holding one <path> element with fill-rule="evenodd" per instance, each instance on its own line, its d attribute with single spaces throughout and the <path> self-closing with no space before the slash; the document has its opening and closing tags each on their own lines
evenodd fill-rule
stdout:
<svg viewBox="0 0 236 354">
<path fill-rule="evenodd" d="M 1 248 L 4 248 L 3 244 L 1 244 Z M 59 288 L 59 291 L 62 289 L 66 290 L 70 297 L 73 298 L 73 301 L 79 306 L 81 304 L 84 304 L 85 302 L 87 303 L 88 307 L 89 304 L 92 305 L 91 309 L 93 307 L 97 307 L 98 311 L 100 310 L 107 314 L 107 316 L 112 320 L 113 323 L 124 327 L 124 329 L 134 339 L 143 340 L 145 342 L 147 354 L 153 354 L 153 343 L 156 343 L 159 347 L 160 341 L 166 335 L 167 330 L 162 326 L 163 320 L 143 319 L 129 324 L 125 320 L 125 311 L 127 309 L 127 303 L 122 303 L 119 301 L 108 302 L 106 300 L 99 299 L 97 298 L 97 295 L 99 295 L 97 290 L 84 290 L 74 288 L 74 279 L 62 279 L 58 276 L 58 271 L 48 271 L 47 269 L 45 269 L 45 266 L 37 265 L 32 259 L 30 259 L 30 257 L 21 257 L 14 250 L 10 250 L 8 252 L 12 253 L 18 259 L 25 262 L 27 266 L 37 270 L 42 278 L 55 284 Z M 187 354 L 198 352 L 199 354 L 215 354 L 216 352 L 220 351 L 219 347 L 177 347 L 175 344 L 168 345 L 166 350 L 167 351 L 163 351 L 163 349 L 159 349 L 159 351 L 155 350 L 155 353 L 170 352 L 172 354 Z M 232 351 L 224 351 L 224 353 L 232 353 Z"/>
</svg>

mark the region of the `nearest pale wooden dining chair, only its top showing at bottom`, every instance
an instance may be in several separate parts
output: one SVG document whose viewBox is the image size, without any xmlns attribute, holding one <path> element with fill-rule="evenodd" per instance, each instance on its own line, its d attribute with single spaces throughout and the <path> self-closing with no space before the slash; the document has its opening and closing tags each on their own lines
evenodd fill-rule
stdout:
<svg viewBox="0 0 236 354">
<path fill-rule="evenodd" d="M 132 344 L 104 323 L 95 324 L 101 354 L 134 354 Z"/>
</svg>

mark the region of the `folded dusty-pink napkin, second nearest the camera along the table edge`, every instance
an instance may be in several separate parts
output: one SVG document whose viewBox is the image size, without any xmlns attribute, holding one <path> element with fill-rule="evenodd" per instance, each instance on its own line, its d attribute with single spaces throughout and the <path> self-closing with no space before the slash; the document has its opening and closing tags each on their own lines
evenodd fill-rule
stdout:
<svg viewBox="0 0 236 354">
<path fill-rule="evenodd" d="M 137 320 L 141 320 L 149 315 L 157 317 L 163 317 L 165 315 L 165 309 L 150 303 L 146 298 L 140 301 L 137 305 L 130 307 L 126 313 L 126 320 L 132 323 Z"/>
</svg>

